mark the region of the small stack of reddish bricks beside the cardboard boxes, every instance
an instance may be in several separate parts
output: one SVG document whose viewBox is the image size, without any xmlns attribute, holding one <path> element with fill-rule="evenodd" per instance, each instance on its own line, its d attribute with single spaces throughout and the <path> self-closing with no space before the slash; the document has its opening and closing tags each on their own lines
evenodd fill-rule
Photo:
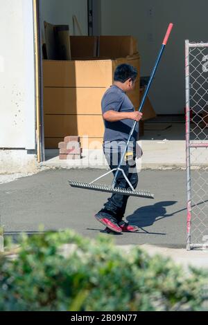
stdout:
<svg viewBox="0 0 208 325">
<path fill-rule="evenodd" d="M 81 159 L 83 149 L 81 148 L 80 137 L 66 136 L 64 142 L 58 144 L 60 149 L 60 160 Z"/>
</svg>

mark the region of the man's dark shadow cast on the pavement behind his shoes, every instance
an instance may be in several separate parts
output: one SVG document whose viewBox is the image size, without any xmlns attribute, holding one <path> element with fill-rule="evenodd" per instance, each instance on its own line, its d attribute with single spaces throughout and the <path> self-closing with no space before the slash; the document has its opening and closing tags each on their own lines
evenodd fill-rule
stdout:
<svg viewBox="0 0 208 325">
<path fill-rule="evenodd" d="M 175 203 L 177 203 L 177 201 L 162 201 L 155 203 L 154 205 L 139 207 L 139 209 L 137 209 L 126 219 L 129 223 L 137 225 L 141 229 L 149 227 L 156 221 L 174 216 L 175 212 L 173 214 L 166 213 L 166 207 L 174 205 Z"/>
</svg>

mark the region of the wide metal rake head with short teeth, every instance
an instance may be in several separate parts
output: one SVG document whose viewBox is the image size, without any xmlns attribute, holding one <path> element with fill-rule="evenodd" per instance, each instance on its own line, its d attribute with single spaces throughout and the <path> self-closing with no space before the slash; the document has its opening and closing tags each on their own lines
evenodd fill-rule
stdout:
<svg viewBox="0 0 208 325">
<path fill-rule="evenodd" d="M 138 191 L 135 190 L 133 192 L 131 189 L 113 188 L 109 185 L 79 183 L 74 180 L 69 180 L 69 185 L 71 187 L 76 187 L 79 189 L 89 189 L 98 192 L 117 193 L 117 194 L 123 194 L 127 196 L 137 196 L 139 198 L 154 198 L 154 194 L 150 194 L 150 192 L 145 191 L 143 189 L 140 189 Z"/>
</svg>

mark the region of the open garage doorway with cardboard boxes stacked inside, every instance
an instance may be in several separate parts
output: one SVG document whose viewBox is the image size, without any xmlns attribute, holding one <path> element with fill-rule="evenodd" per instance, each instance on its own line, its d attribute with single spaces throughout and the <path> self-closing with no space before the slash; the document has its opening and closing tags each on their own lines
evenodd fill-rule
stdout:
<svg viewBox="0 0 208 325">
<path fill-rule="evenodd" d="M 146 102 L 140 140 L 184 140 L 184 39 L 207 39 L 207 6 L 205 0 L 41 0 L 46 159 L 58 156 L 70 136 L 84 150 L 92 143 L 101 149 L 100 102 L 116 64 L 137 66 L 132 100 L 139 106 L 169 22 L 175 28 Z"/>
</svg>

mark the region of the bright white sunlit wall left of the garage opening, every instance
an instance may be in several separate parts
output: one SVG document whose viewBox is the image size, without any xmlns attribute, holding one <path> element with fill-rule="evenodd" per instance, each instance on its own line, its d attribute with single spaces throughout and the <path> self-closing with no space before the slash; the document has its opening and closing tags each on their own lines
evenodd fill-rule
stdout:
<svg viewBox="0 0 208 325">
<path fill-rule="evenodd" d="M 32 0 L 0 0 L 0 148 L 35 149 Z"/>
</svg>

